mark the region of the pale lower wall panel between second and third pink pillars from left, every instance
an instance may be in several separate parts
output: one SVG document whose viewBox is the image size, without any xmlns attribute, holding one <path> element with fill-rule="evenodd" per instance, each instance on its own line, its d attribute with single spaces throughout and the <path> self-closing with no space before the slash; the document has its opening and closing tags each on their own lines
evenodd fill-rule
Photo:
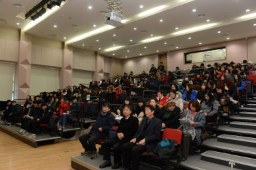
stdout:
<svg viewBox="0 0 256 170">
<path fill-rule="evenodd" d="M 73 69 L 72 85 L 89 84 L 93 79 L 92 71 L 82 71 Z"/>
</svg>

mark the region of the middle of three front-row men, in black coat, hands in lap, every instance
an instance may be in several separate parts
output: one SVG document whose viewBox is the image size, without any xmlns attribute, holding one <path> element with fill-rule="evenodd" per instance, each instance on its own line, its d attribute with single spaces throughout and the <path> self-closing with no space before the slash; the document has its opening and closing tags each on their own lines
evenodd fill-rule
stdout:
<svg viewBox="0 0 256 170">
<path fill-rule="evenodd" d="M 123 144 L 131 141 L 133 135 L 135 135 L 139 128 L 139 121 L 136 117 L 131 116 L 131 111 L 132 108 L 130 105 L 125 105 L 125 107 L 123 107 L 124 117 L 121 119 L 117 129 L 117 136 L 114 139 L 107 139 L 107 141 L 103 143 L 101 148 L 103 150 L 103 160 L 105 160 L 105 162 L 99 166 L 100 168 L 111 166 L 111 148 L 113 148 L 114 153 L 114 165 L 111 169 L 119 169 L 119 167 L 122 166 L 121 151 Z"/>
</svg>

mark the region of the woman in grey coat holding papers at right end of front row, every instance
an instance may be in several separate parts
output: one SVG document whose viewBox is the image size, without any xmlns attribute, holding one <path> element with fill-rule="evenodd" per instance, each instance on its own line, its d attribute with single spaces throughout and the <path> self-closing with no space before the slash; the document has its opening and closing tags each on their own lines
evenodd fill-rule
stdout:
<svg viewBox="0 0 256 170">
<path fill-rule="evenodd" d="M 201 128 L 205 125 L 205 114 L 197 99 L 189 102 L 189 107 L 183 111 L 181 119 L 189 119 L 183 124 L 182 161 L 185 161 L 189 155 L 190 142 L 196 139 L 197 146 L 201 145 Z"/>
</svg>

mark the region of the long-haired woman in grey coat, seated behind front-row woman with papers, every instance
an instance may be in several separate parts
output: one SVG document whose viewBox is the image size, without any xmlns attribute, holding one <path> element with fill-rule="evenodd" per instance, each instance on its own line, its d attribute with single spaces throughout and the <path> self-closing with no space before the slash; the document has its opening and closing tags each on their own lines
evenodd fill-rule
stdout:
<svg viewBox="0 0 256 170">
<path fill-rule="evenodd" d="M 216 121 L 219 102 L 213 98 L 210 91 L 205 91 L 203 100 L 201 101 L 201 109 L 205 113 L 206 123 Z"/>
</svg>

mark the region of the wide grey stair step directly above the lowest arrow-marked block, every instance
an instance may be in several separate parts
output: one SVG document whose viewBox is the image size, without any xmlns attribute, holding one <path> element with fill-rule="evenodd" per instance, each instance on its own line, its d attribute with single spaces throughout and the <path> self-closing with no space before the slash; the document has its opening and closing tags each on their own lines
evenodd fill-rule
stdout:
<svg viewBox="0 0 256 170">
<path fill-rule="evenodd" d="M 232 143 L 223 143 L 217 141 L 217 139 L 207 139 L 203 142 L 203 147 L 207 147 L 209 149 L 215 149 L 217 151 L 227 151 L 229 153 L 238 153 L 241 155 L 247 155 L 251 157 L 256 157 L 256 148 L 255 147 L 247 147 L 243 145 L 236 145 Z"/>
</svg>

